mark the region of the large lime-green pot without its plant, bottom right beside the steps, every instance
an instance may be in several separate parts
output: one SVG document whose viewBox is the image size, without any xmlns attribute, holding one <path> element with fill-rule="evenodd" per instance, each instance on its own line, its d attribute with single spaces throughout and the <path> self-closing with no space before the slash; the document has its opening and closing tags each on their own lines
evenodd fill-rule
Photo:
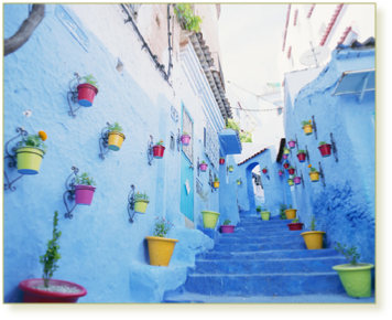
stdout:
<svg viewBox="0 0 392 320">
<path fill-rule="evenodd" d="M 358 264 L 357 267 L 347 264 L 333 267 L 338 271 L 341 284 L 349 297 L 364 298 L 371 296 L 371 264 Z"/>
</svg>

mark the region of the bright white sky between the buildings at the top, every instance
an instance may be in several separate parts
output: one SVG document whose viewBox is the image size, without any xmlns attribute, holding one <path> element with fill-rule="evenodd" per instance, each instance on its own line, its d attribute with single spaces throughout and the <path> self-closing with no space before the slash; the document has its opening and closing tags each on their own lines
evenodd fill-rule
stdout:
<svg viewBox="0 0 392 320">
<path fill-rule="evenodd" d="M 221 4 L 219 42 L 225 81 L 260 94 L 281 83 L 277 53 L 287 4 Z"/>
</svg>

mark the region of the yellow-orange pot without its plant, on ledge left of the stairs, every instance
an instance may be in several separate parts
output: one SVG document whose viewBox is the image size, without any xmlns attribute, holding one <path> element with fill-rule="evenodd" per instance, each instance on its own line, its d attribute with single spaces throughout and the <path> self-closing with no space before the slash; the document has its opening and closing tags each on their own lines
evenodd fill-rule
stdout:
<svg viewBox="0 0 392 320">
<path fill-rule="evenodd" d="M 149 244 L 150 265 L 167 267 L 178 241 L 159 236 L 146 236 L 145 239 Z"/>
</svg>

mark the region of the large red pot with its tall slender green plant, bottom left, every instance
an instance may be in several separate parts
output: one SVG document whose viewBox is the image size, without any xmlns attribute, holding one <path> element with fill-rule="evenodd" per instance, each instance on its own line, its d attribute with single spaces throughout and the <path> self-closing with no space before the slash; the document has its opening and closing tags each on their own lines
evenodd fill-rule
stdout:
<svg viewBox="0 0 392 320">
<path fill-rule="evenodd" d="M 23 291 L 23 302 L 76 302 L 79 297 L 87 295 L 87 290 L 76 284 L 52 279 L 54 271 L 58 268 L 56 265 L 61 258 L 58 253 L 58 238 L 62 232 L 57 231 L 58 223 L 57 211 L 53 218 L 53 238 L 47 242 L 47 249 L 43 256 L 40 256 L 40 263 L 43 265 L 43 275 L 41 279 L 28 279 L 19 284 Z"/>
</svg>

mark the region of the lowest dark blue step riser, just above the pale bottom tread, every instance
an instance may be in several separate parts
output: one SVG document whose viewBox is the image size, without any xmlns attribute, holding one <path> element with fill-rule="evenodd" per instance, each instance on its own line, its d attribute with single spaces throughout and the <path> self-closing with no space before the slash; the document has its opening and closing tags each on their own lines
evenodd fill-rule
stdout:
<svg viewBox="0 0 392 320">
<path fill-rule="evenodd" d="M 328 275 L 269 275 L 269 276 L 196 276 L 189 275 L 188 292 L 214 296 L 294 296 L 342 294 L 337 274 Z"/>
</svg>

